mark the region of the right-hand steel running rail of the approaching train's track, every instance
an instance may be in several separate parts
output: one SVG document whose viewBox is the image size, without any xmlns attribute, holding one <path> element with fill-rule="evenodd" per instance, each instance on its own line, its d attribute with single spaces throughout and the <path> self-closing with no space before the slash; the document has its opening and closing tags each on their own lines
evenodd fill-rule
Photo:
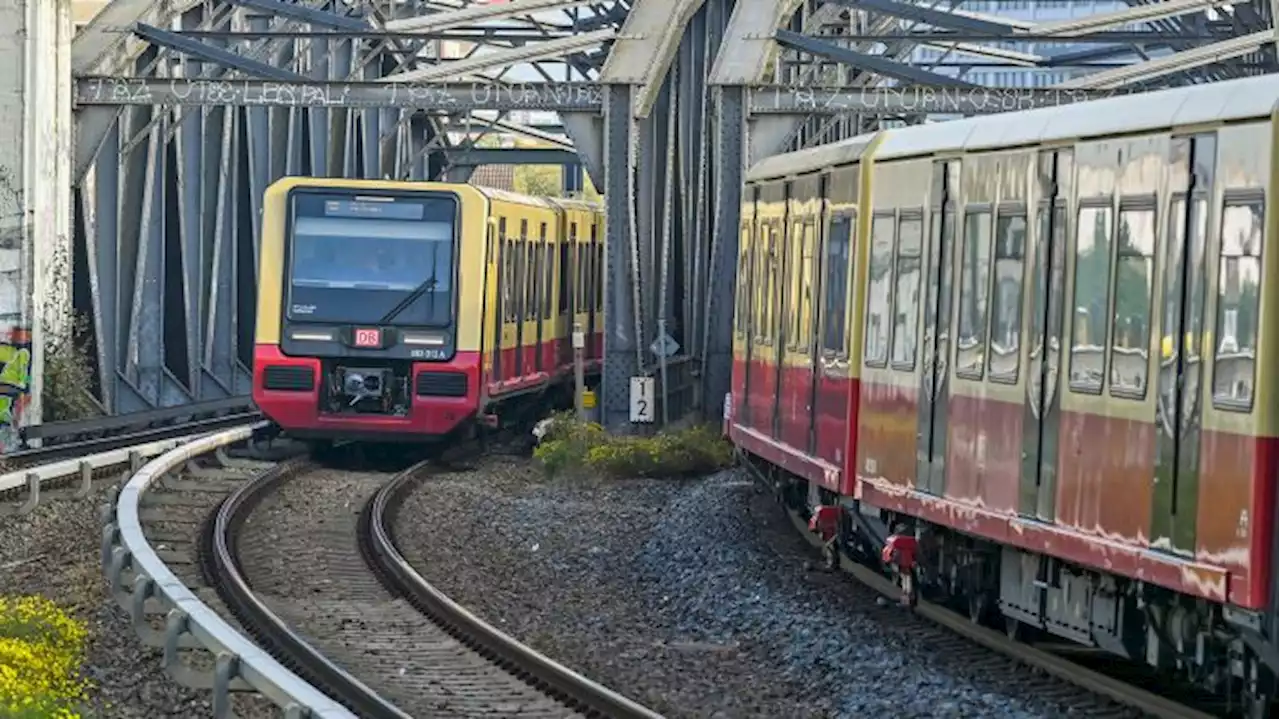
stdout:
<svg viewBox="0 0 1280 719">
<path fill-rule="evenodd" d="M 413 569 L 396 546 L 388 514 L 413 489 L 413 481 L 421 476 L 420 468 L 421 464 L 397 475 L 366 505 L 367 525 L 361 541 L 367 542 L 366 557 L 376 565 L 388 589 L 402 595 L 465 645 L 497 660 L 507 670 L 527 676 L 543 691 L 566 697 L 575 707 L 611 719 L 662 719 L 660 714 L 539 654 L 467 612 Z"/>
</svg>

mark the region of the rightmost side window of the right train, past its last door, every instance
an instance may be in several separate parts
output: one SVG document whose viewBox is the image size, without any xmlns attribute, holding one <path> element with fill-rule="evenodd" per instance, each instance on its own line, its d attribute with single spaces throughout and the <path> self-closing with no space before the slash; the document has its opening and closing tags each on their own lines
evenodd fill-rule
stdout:
<svg viewBox="0 0 1280 719">
<path fill-rule="evenodd" d="M 1213 406 L 1233 412 L 1253 408 L 1258 358 L 1258 296 L 1262 276 L 1261 196 L 1230 197 L 1222 207 L 1217 265 L 1217 347 L 1213 351 Z"/>
</svg>

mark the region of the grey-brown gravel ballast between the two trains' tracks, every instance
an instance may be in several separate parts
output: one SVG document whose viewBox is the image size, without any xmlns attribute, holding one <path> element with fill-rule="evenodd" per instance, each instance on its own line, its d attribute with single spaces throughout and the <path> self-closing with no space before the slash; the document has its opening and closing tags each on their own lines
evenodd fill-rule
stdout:
<svg viewBox="0 0 1280 719">
<path fill-rule="evenodd" d="M 394 531 L 453 600 L 667 716 L 1070 715 L 1000 681 L 1028 669 L 934 654 L 922 632 L 946 629 L 812 571 L 736 472 L 567 481 L 486 458 L 422 481 Z"/>
</svg>

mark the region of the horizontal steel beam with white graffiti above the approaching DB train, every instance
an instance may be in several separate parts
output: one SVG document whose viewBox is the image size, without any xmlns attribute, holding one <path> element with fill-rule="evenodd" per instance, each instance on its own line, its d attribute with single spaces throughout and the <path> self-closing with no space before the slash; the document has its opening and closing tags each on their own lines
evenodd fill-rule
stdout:
<svg viewBox="0 0 1280 719">
<path fill-rule="evenodd" d="M 599 111 L 595 83 L 274 82 L 82 77 L 76 104 L 133 106 L 399 107 L 448 113 L 477 110 Z"/>
</svg>

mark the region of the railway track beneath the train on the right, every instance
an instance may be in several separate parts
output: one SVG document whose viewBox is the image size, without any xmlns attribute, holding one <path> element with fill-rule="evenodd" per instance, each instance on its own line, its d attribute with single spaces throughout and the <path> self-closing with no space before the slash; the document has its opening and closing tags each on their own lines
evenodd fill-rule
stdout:
<svg viewBox="0 0 1280 719">
<path fill-rule="evenodd" d="M 763 481 L 759 475 L 755 478 Z M 768 489 L 772 491 L 772 486 Z M 815 549 L 822 549 L 822 540 L 809 531 L 806 519 L 794 509 L 785 508 L 785 510 L 796 531 Z M 840 555 L 840 569 L 876 595 L 890 600 L 884 603 L 886 620 L 909 619 L 908 612 L 896 606 L 901 590 L 883 574 L 845 555 Z M 1060 654 L 1016 641 L 1005 633 L 977 624 L 947 606 L 920 600 L 914 613 L 948 629 L 954 637 L 954 641 L 945 641 L 941 645 L 931 644 L 932 651 L 972 656 L 970 665 L 975 669 L 997 659 L 997 655 L 1014 659 L 1034 670 L 1019 678 L 1025 684 L 1027 691 L 1060 702 L 1064 710 L 1084 713 L 1091 719 L 1133 716 L 1135 714 L 1161 719 L 1213 719 L 1215 716 L 1194 706 L 1180 704 L 1103 672 L 1091 669 Z M 1091 700 L 1091 696 L 1105 699 L 1111 706 L 1100 706 Z"/>
</svg>

